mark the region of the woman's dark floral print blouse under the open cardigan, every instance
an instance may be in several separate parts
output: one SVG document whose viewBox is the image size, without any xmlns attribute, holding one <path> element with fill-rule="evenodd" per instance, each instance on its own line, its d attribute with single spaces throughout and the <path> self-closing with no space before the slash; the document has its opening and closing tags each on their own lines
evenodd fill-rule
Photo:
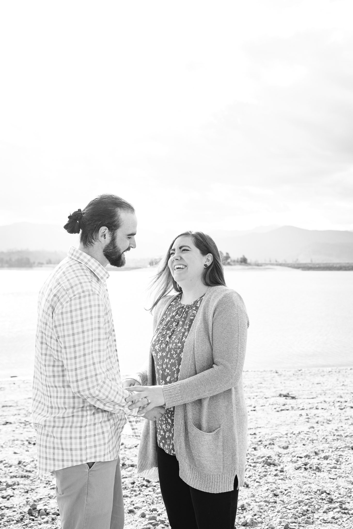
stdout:
<svg viewBox="0 0 353 529">
<path fill-rule="evenodd" d="M 203 298 L 201 296 L 193 303 L 183 305 L 180 303 L 181 296 L 170 303 L 152 338 L 151 352 L 158 386 L 178 381 L 185 340 Z M 175 455 L 173 439 L 174 407 L 167 408 L 157 420 L 157 444 L 167 454 Z"/>
</svg>

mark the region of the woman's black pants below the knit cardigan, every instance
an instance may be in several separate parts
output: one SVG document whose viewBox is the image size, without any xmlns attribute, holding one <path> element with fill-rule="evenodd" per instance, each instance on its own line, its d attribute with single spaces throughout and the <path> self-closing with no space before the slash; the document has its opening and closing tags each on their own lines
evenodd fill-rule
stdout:
<svg viewBox="0 0 353 529">
<path fill-rule="evenodd" d="M 179 463 L 157 447 L 159 485 L 171 529 L 234 529 L 238 478 L 229 492 L 203 492 L 179 478 Z"/>
</svg>

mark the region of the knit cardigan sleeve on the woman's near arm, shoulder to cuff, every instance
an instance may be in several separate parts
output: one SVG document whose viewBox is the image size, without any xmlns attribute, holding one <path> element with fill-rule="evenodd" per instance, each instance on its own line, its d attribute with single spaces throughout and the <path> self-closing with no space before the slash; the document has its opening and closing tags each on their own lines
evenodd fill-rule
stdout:
<svg viewBox="0 0 353 529">
<path fill-rule="evenodd" d="M 234 291 L 227 293 L 213 314 L 212 368 L 163 386 L 166 407 L 211 397 L 237 386 L 245 360 L 248 326 L 241 297 Z"/>
</svg>

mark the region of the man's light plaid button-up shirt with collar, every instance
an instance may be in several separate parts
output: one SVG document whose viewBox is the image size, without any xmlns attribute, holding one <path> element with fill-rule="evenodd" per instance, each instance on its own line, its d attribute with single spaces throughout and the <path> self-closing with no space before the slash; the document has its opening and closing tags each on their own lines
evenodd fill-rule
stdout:
<svg viewBox="0 0 353 529">
<path fill-rule="evenodd" d="M 40 291 L 32 397 L 39 472 L 117 459 L 125 414 L 138 412 L 124 400 L 108 277 L 71 248 Z"/>
</svg>

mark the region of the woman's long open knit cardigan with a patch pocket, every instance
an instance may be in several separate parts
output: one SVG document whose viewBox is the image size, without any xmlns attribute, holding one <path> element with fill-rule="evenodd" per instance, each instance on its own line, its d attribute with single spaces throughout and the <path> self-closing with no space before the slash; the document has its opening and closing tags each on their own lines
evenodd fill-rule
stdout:
<svg viewBox="0 0 353 529">
<path fill-rule="evenodd" d="M 176 296 L 160 300 L 153 330 Z M 205 492 L 243 486 L 247 452 L 247 408 L 242 370 L 248 315 L 236 291 L 209 287 L 186 338 L 177 382 L 163 386 L 166 407 L 175 406 L 174 447 L 179 475 Z M 151 351 L 148 369 L 134 375 L 156 385 Z M 158 480 L 156 422 L 144 421 L 138 454 L 139 475 Z"/>
</svg>

